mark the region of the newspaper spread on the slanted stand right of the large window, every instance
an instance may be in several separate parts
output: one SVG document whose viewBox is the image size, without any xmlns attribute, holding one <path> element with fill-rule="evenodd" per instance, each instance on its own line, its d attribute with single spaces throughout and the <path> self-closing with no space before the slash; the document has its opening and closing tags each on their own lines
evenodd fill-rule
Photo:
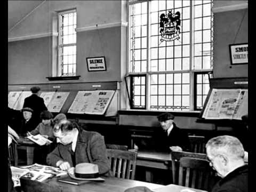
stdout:
<svg viewBox="0 0 256 192">
<path fill-rule="evenodd" d="M 202 115 L 205 119 L 242 119 L 248 114 L 247 89 L 212 89 Z"/>
</svg>

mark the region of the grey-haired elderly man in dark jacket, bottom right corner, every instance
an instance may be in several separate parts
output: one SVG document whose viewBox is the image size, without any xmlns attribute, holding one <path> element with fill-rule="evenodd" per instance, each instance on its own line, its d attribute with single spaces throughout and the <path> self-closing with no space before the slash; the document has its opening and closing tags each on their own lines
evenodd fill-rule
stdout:
<svg viewBox="0 0 256 192">
<path fill-rule="evenodd" d="M 206 154 L 212 168 L 222 178 L 212 192 L 247 192 L 248 166 L 244 163 L 244 148 L 235 137 L 222 135 L 206 143 Z"/>
</svg>

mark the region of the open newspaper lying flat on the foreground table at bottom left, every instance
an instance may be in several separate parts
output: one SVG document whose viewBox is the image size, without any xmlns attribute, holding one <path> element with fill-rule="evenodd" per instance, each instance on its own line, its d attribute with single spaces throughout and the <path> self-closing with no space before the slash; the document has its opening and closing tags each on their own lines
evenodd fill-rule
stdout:
<svg viewBox="0 0 256 192">
<path fill-rule="evenodd" d="M 62 171 L 58 167 L 33 164 L 28 166 L 14 167 L 11 166 L 12 180 L 14 187 L 20 186 L 20 178 L 28 178 L 42 182 L 48 178 L 66 175 L 66 171 Z"/>
</svg>

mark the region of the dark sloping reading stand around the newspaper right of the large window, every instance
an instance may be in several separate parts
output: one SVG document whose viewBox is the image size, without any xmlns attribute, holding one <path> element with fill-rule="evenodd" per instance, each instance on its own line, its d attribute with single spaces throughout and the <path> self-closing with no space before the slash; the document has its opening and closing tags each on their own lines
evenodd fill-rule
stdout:
<svg viewBox="0 0 256 192">
<path fill-rule="evenodd" d="M 210 99 L 213 89 L 230 89 L 230 90 L 244 89 L 244 90 L 248 90 L 248 78 L 247 77 L 211 78 L 211 79 L 209 79 L 209 81 L 210 81 L 210 90 L 205 99 L 201 114 L 199 114 L 199 117 L 196 122 L 197 123 L 212 123 L 215 126 L 215 131 L 218 130 L 218 126 L 232 126 L 232 125 L 242 124 L 241 119 L 233 119 L 233 118 L 207 119 L 207 118 L 204 118 L 203 115 L 205 113 L 206 106 L 210 102 L 209 99 Z M 244 113 L 247 114 L 248 110 L 244 111 Z"/>
</svg>

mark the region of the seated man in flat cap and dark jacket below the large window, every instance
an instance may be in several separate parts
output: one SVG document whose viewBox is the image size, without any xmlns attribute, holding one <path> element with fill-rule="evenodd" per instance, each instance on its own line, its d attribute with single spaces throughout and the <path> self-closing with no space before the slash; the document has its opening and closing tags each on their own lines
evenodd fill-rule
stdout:
<svg viewBox="0 0 256 192">
<path fill-rule="evenodd" d="M 188 135 L 179 129 L 173 121 L 174 115 L 162 113 L 157 116 L 162 130 L 157 130 L 156 147 L 164 151 L 189 151 L 190 143 Z"/>
</svg>

